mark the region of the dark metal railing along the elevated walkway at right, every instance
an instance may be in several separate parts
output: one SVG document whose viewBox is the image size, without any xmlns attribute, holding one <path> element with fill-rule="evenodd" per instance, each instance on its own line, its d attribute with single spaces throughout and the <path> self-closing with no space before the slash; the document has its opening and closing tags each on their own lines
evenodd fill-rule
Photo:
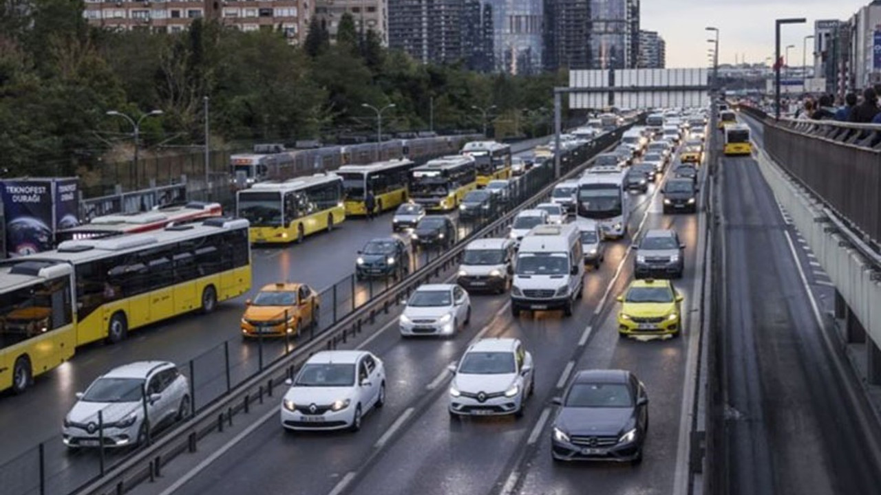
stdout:
<svg viewBox="0 0 881 495">
<path fill-rule="evenodd" d="M 768 154 L 862 237 L 881 241 L 881 125 L 774 119 L 741 106 L 764 126 Z"/>
</svg>

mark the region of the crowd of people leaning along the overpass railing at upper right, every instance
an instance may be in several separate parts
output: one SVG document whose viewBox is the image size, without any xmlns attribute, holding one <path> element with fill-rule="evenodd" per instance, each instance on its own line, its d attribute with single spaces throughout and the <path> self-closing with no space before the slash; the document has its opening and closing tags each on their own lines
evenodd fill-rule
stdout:
<svg viewBox="0 0 881 495">
<path fill-rule="evenodd" d="M 839 101 L 837 106 L 831 94 L 823 94 L 819 97 L 808 96 L 804 98 L 803 105 L 796 111 L 795 117 L 818 121 L 881 124 L 879 94 L 881 94 L 881 84 L 862 90 L 862 97 L 858 97 L 855 92 L 848 92 L 844 101 Z"/>
</svg>

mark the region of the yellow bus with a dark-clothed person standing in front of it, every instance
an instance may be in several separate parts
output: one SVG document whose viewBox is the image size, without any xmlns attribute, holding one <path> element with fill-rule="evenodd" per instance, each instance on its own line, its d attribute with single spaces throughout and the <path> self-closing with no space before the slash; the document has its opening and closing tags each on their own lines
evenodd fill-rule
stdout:
<svg viewBox="0 0 881 495">
<path fill-rule="evenodd" d="M 393 210 L 407 201 L 407 179 L 416 166 L 409 159 L 393 159 L 370 165 L 346 165 L 335 174 L 343 178 L 345 214 L 366 215 L 364 198 L 374 193 L 374 211 Z"/>
</svg>

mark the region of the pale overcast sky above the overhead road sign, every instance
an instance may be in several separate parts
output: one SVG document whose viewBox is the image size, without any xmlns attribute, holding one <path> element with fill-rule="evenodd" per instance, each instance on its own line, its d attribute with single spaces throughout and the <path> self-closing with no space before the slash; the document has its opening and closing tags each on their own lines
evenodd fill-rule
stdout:
<svg viewBox="0 0 881 495">
<path fill-rule="evenodd" d="M 657 31 L 667 41 L 667 67 L 706 67 L 707 40 L 719 28 L 719 63 L 764 62 L 774 53 L 774 19 L 807 18 L 805 25 L 782 26 L 781 55 L 787 45 L 790 63 L 801 65 L 804 36 L 814 21 L 847 20 L 870 0 L 642 0 L 640 29 Z M 808 58 L 811 58 L 808 40 Z"/>
</svg>

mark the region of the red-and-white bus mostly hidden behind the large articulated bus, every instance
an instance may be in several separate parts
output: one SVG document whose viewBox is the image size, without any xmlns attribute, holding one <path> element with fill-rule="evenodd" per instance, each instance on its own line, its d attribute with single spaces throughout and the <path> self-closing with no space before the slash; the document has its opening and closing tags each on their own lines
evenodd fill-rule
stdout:
<svg viewBox="0 0 881 495">
<path fill-rule="evenodd" d="M 152 211 L 116 213 L 95 217 L 87 224 L 58 231 L 56 243 L 65 240 L 98 239 L 123 233 L 148 232 L 168 225 L 179 225 L 222 215 L 223 207 L 220 203 L 196 201 L 155 208 Z"/>
</svg>

